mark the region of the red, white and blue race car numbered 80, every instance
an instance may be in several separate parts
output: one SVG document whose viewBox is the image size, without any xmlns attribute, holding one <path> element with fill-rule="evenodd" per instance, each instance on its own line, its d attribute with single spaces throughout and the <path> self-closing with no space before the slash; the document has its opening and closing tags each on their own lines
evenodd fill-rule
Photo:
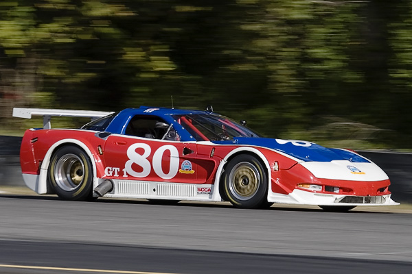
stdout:
<svg viewBox="0 0 412 274">
<path fill-rule="evenodd" d="M 119 112 L 14 108 L 43 116 L 21 143 L 25 184 L 65 200 L 98 197 L 150 201 L 230 201 L 237 208 L 273 203 L 347 211 L 397 205 L 389 178 L 347 149 L 263 138 L 213 112 L 141 106 Z M 78 129 L 52 129 L 52 116 L 91 117 Z"/>
</svg>

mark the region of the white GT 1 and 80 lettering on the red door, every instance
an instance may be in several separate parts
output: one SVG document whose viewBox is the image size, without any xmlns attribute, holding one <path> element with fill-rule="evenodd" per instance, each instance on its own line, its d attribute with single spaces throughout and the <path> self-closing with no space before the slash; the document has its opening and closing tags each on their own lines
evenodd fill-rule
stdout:
<svg viewBox="0 0 412 274">
<path fill-rule="evenodd" d="M 136 152 L 136 149 L 144 149 L 144 153 L 139 154 Z M 163 154 L 167 150 L 170 151 L 169 172 L 164 173 L 162 169 L 162 158 Z M 172 145 L 164 145 L 162 147 L 159 147 L 159 149 L 157 149 L 157 151 L 155 151 L 155 153 L 153 154 L 152 166 L 150 165 L 150 162 L 148 160 L 151 152 L 152 149 L 150 148 L 150 146 L 144 143 L 137 143 L 128 147 L 127 157 L 129 158 L 129 160 L 124 166 L 123 177 L 128 177 L 128 174 L 137 178 L 147 177 L 152 170 L 152 166 L 155 173 L 162 179 L 172 179 L 174 176 L 176 176 L 177 171 L 179 170 L 179 151 L 177 151 L 176 147 Z M 143 170 L 140 172 L 135 171 L 133 169 L 133 164 L 137 164 Z M 118 177 L 118 171 L 119 168 L 113 168 L 110 166 L 107 166 L 106 169 L 104 169 L 106 176 L 114 175 L 115 177 Z"/>
</svg>

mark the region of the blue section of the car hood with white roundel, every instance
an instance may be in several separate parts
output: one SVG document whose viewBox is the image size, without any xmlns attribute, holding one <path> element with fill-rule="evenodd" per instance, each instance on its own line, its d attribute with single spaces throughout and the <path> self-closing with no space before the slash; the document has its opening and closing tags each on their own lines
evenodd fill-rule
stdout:
<svg viewBox="0 0 412 274">
<path fill-rule="evenodd" d="M 221 145 L 251 145 L 256 147 L 266 147 L 282 153 L 286 153 L 305 162 L 331 162 L 334 160 L 348 160 L 350 162 L 369 162 L 360 155 L 345 149 L 329 149 L 317 145 L 314 142 L 301 140 L 283 140 L 272 138 L 247 138 L 235 137 L 233 140 L 214 141 Z"/>
</svg>

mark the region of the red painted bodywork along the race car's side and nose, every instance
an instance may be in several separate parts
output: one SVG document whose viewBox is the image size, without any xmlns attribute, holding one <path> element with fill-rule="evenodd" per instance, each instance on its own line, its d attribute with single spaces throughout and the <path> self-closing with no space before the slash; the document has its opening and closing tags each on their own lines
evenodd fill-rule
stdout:
<svg viewBox="0 0 412 274">
<path fill-rule="evenodd" d="M 78 140 L 89 149 L 99 178 L 187 184 L 214 184 L 222 159 L 233 149 L 241 147 L 201 142 L 168 142 L 117 134 L 110 135 L 105 140 L 96 136 L 96 132 L 74 129 L 27 130 L 21 145 L 23 173 L 38 174 L 47 151 L 64 139 Z M 98 147 L 102 148 L 102 155 Z M 389 179 L 379 182 L 319 179 L 282 153 L 262 147 L 253 149 L 260 151 L 266 158 L 271 170 L 271 190 L 275 193 L 287 195 L 297 188 L 297 184 L 302 183 L 337 186 L 341 188 L 339 194 L 345 195 L 390 193 L 387 190 Z M 343 190 L 347 192 L 342 192 Z"/>
</svg>

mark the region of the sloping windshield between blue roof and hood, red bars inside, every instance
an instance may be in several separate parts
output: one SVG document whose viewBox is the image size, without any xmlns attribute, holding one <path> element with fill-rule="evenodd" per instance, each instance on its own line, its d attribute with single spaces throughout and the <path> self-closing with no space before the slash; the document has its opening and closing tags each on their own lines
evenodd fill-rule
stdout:
<svg viewBox="0 0 412 274">
<path fill-rule="evenodd" d="M 260 137 L 235 121 L 214 114 L 174 115 L 173 118 L 198 141 L 232 140 L 234 137 Z"/>
</svg>

